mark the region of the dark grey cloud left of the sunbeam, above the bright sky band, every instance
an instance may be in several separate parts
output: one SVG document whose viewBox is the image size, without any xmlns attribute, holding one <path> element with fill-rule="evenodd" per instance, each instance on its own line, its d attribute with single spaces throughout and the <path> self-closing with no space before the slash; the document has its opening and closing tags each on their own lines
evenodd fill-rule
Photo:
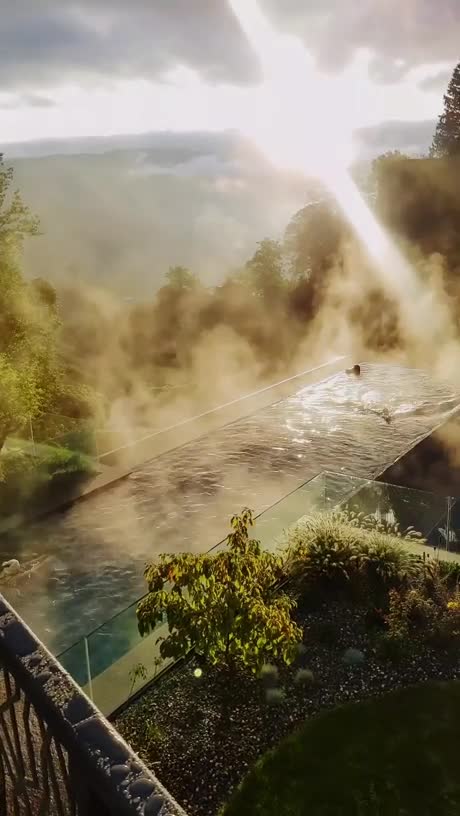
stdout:
<svg viewBox="0 0 460 816">
<path fill-rule="evenodd" d="M 214 81 L 259 76 L 225 0 L 0 0 L 0 14 L 6 89 L 153 78 L 178 64 Z"/>
</svg>

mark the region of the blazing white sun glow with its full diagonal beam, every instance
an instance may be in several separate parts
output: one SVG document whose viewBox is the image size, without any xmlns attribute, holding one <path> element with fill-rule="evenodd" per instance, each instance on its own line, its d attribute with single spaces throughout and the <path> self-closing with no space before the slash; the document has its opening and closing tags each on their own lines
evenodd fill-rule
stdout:
<svg viewBox="0 0 460 816">
<path fill-rule="evenodd" d="M 349 97 L 331 99 L 315 77 L 300 40 L 278 34 L 256 0 L 230 0 L 263 68 L 264 82 L 246 134 L 273 164 L 320 178 L 378 263 L 384 280 L 404 299 L 418 286 L 414 270 L 382 229 L 354 184 Z M 329 89 L 328 89 L 329 90 Z"/>
</svg>

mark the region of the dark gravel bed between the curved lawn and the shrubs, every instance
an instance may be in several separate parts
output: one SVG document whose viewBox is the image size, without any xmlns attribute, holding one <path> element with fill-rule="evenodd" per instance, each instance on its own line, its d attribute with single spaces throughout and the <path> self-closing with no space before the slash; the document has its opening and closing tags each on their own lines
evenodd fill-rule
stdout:
<svg viewBox="0 0 460 816">
<path fill-rule="evenodd" d="M 201 667 L 193 658 L 160 678 L 117 718 L 121 734 L 190 816 L 214 816 L 257 759 L 310 716 L 398 687 L 460 677 L 453 652 L 423 649 L 398 663 L 379 660 L 363 609 L 328 604 L 303 612 L 299 622 L 305 648 L 275 680 L 229 678 L 216 669 L 203 669 L 198 678 L 195 671 Z M 326 638 L 318 637 L 322 624 Z M 364 662 L 345 663 L 347 649 L 362 652 Z M 350 811 L 361 812 L 368 813 Z"/>
</svg>

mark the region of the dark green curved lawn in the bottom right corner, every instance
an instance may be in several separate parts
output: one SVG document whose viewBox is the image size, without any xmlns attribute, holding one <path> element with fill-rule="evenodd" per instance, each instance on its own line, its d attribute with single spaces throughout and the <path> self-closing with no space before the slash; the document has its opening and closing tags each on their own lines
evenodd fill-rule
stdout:
<svg viewBox="0 0 460 816">
<path fill-rule="evenodd" d="M 269 752 L 224 816 L 458 816 L 460 682 L 311 719 Z"/>
</svg>

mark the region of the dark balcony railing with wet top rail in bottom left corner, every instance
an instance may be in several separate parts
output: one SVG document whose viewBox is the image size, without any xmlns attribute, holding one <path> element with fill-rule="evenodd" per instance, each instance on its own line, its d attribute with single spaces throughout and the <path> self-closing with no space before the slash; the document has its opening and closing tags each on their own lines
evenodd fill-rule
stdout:
<svg viewBox="0 0 460 816">
<path fill-rule="evenodd" d="M 0 595 L 1 816 L 186 816 Z"/>
</svg>

